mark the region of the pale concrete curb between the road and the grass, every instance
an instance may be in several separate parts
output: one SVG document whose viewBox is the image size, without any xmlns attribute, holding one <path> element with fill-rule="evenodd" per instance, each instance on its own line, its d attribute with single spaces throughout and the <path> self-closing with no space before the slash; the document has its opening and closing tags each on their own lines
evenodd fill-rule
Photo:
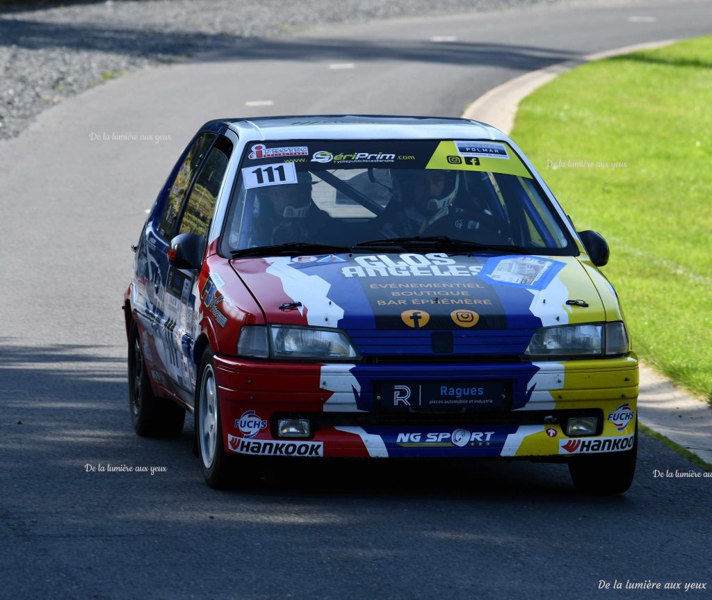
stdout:
<svg viewBox="0 0 712 600">
<path fill-rule="evenodd" d="M 472 102 L 462 116 L 494 125 L 509 135 L 514 126 L 519 102 L 561 73 L 590 60 L 661 48 L 674 41 L 615 48 L 525 73 L 489 90 Z M 641 423 L 686 448 L 706 463 L 712 464 L 712 409 L 704 399 L 696 398 L 674 386 L 669 379 L 642 364 L 638 409 Z"/>
</svg>

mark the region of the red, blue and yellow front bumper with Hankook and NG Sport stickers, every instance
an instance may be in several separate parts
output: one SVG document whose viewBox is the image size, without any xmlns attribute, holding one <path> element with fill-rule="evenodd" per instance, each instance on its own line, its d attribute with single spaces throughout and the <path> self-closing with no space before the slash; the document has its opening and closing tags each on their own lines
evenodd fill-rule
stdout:
<svg viewBox="0 0 712 600">
<path fill-rule="evenodd" d="M 567 362 L 301 364 L 217 355 L 227 451 L 259 456 L 567 460 L 632 449 L 634 354 Z M 496 410 L 384 410 L 384 381 L 504 381 Z M 596 416 L 593 435 L 567 436 L 568 419 Z M 278 436 L 279 419 L 308 419 L 309 438 Z"/>
</svg>

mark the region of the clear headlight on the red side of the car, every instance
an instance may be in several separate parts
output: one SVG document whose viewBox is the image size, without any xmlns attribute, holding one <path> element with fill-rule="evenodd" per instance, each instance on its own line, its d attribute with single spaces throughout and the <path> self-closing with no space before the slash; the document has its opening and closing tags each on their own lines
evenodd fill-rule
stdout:
<svg viewBox="0 0 712 600">
<path fill-rule="evenodd" d="M 237 342 L 242 357 L 278 360 L 357 360 L 361 355 L 346 332 L 329 327 L 245 325 Z"/>
</svg>

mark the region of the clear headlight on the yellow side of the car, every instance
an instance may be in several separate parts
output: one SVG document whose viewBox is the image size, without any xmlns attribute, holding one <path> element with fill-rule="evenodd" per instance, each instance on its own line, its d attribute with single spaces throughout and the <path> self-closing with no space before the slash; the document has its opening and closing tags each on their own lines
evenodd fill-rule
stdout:
<svg viewBox="0 0 712 600">
<path fill-rule="evenodd" d="M 524 355 L 527 357 L 614 356 L 628 352 L 628 335 L 622 322 L 540 327 Z"/>
</svg>

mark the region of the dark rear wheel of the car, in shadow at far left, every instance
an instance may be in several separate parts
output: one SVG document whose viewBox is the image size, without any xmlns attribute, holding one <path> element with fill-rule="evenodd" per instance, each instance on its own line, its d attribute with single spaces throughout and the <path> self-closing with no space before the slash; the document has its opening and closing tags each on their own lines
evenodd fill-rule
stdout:
<svg viewBox="0 0 712 600">
<path fill-rule="evenodd" d="M 135 322 L 129 334 L 128 370 L 129 412 L 134 431 L 139 436 L 150 438 L 179 436 L 183 431 L 185 409 L 153 394 Z"/>
</svg>

